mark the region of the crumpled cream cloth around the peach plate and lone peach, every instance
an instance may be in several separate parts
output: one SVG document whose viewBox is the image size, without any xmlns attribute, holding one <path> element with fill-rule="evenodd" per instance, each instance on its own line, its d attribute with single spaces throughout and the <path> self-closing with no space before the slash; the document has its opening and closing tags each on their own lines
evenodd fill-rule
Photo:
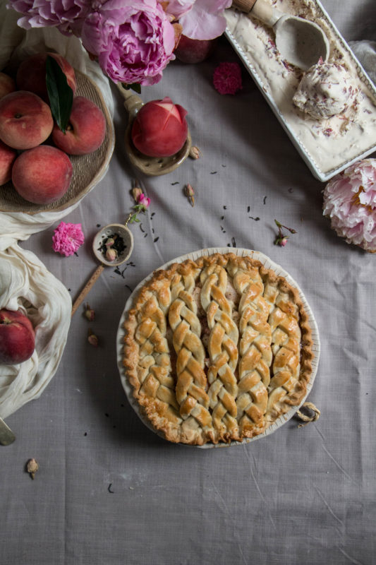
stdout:
<svg viewBox="0 0 376 565">
<path fill-rule="evenodd" d="M 99 65 L 90 61 L 80 40 L 66 37 L 54 28 L 22 30 L 17 26 L 19 16 L 6 9 L 6 2 L 0 4 L 0 69 L 9 62 L 17 64 L 33 53 L 59 52 L 75 69 L 97 83 L 113 114 L 108 79 Z M 22 309 L 35 328 L 32 357 L 18 365 L 0 365 L 2 418 L 44 391 L 59 366 L 71 323 L 72 303 L 68 290 L 35 254 L 22 249 L 18 241 L 57 225 L 79 204 L 80 201 L 63 211 L 34 215 L 0 212 L 0 308 Z"/>
</svg>

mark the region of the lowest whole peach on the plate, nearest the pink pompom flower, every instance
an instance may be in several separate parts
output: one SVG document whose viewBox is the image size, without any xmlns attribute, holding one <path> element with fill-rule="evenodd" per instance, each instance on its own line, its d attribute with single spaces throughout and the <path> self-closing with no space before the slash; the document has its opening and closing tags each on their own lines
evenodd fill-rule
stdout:
<svg viewBox="0 0 376 565">
<path fill-rule="evenodd" d="M 71 160 L 51 145 L 38 145 L 18 155 L 13 164 L 13 186 L 25 200 L 48 204 L 59 200 L 69 188 Z"/>
</svg>

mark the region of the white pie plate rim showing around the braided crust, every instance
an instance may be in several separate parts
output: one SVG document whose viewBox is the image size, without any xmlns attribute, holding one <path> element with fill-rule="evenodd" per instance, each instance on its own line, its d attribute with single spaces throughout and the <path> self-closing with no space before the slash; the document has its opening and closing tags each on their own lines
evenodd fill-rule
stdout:
<svg viewBox="0 0 376 565">
<path fill-rule="evenodd" d="M 186 259 L 192 259 L 193 261 L 195 261 L 201 256 L 205 256 L 205 255 L 210 256 L 210 255 L 213 255 L 213 254 L 216 254 L 216 253 L 228 254 L 230 252 L 234 253 L 238 256 L 243 256 L 243 257 L 247 256 L 247 257 L 250 257 L 252 259 L 255 259 L 256 261 L 260 261 L 260 263 L 262 263 L 262 265 L 264 265 L 265 268 L 274 270 L 274 273 L 276 273 L 278 276 L 286 278 L 288 283 L 292 287 L 296 288 L 296 290 L 298 290 L 299 297 L 301 298 L 301 301 L 303 302 L 303 306 L 305 308 L 305 311 L 308 314 L 308 323 L 309 323 L 311 331 L 312 331 L 312 341 L 313 341 L 312 350 L 313 350 L 314 357 L 313 357 L 313 360 L 312 360 L 312 374 L 310 376 L 310 381 L 307 385 L 307 392 L 306 392 L 304 398 L 301 400 L 301 403 L 299 403 L 299 405 L 293 406 L 288 412 L 286 412 L 286 414 L 279 416 L 279 418 L 277 418 L 277 420 L 275 422 L 273 422 L 265 430 L 265 432 L 263 432 L 262 434 L 254 436 L 252 438 L 245 438 L 242 441 L 230 441 L 229 443 L 219 443 L 219 444 L 207 443 L 207 444 L 203 444 L 202 446 L 191 446 L 189 444 L 182 444 L 182 443 L 178 443 L 176 445 L 186 446 L 186 447 L 198 447 L 198 448 L 201 448 L 201 449 L 222 448 L 222 447 L 231 447 L 231 446 L 240 446 L 240 445 L 249 444 L 251 441 L 256 441 L 257 439 L 262 439 L 264 437 L 269 436 L 270 434 L 276 432 L 277 429 L 279 429 L 281 426 L 286 424 L 286 422 L 289 422 L 289 420 L 291 420 L 291 418 L 296 414 L 296 412 L 298 412 L 298 410 L 300 410 L 303 403 L 305 403 L 305 400 L 308 397 L 308 394 L 312 390 L 313 382 L 315 381 L 315 376 L 317 374 L 317 369 L 318 369 L 319 360 L 320 360 L 320 335 L 319 335 L 319 331 L 318 331 L 318 328 L 317 328 L 315 316 L 313 315 L 313 311 L 310 308 L 310 305 L 308 304 L 308 301 L 305 298 L 303 291 L 298 286 L 296 281 L 291 277 L 291 275 L 289 273 L 287 273 L 287 271 L 284 270 L 283 267 L 281 267 L 278 263 L 274 263 L 274 261 L 272 261 L 271 258 L 269 258 L 267 255 L 263 254 L 261 251 L 253 251 L 251 249 L 242 249 L 242 248 L 237 248 L 237 247 L 234 247 L 234 248 L 232 248 L 232 247 L 231 248 L 229 248 L 229 247 L 209 247 L 209 248 L 206 248 L 206 249 L 200 249 L 198 251 L 193 251 L 192 253 L 188 253 L 186 255 L 181 255 L 180 257 L 177 257 L 175 259 L 171 259 L 171 261 L 164 263 L 164 265 L 159 267 L 157 270 L 164 270 L 166 268 L 169 268 L 173 263 L 183 263 L 183 261 L 186 261 Z M 138 285 L 135 287 L 135 289 L 133 290 L 133 292 L 131 293 L 131 295 L 128 297 L 128 299 L 126 301 L 126 306 L 123 309 L 123 313 L 121 314 L 121 319 L 119 321 L 119 328 L 118 328 L 118 331 L 117 331 L 117 334 L 116 334 L 116 359 L 117 359 L 117 364 L 118 364 L 118 369 L 119 369 L 121 385 L 123 386 L 124 392 L 126 393 L 126 398 L 128 400 L 128 403 L 131 405 L 131 407 L 133 408 L 135 413 L 138 415 L 141 422 L 148 429 L 150 429 L 152 432 L 154 432 L 154 434 L 157 434 L 157 436 L 161 437 L 165 441 L 168 441 L 168 440 L 166 440 L 166 438 L 164 437 L 164 434 L 162 432 L 160 432 L 159 430 L 154 429 L 154 427 L 152 427 L 152 424 L 149 422 L 149 420 L 147 420 L 147 417 L 142 413 L 140 405 L 138 404 L 137 400 L 133 397 L 133 387 L 132 387 L 131 383 L 129 383 L 128 378 L 126 376 L 126 369 L 123 367 L 123 346 L 124 346 L 124 337 L 125 337 L 125 330 L 124 330 L 123 325 L 124 325 L 124 322 L 126 321 L 128 311 L 131 309 L 131 307 L 133 305 L 133 300 L 135 299 L 135 296 L 138 294 L 138 291 L 140 290 L 140 288 L 143 285 L 145 285 L 145 283 L 147 283 L 147 281 L 150 280 L 150 278 L 152 278 L 153 273 L 154 273 L 154 271 L 152 271 L 152 273 L 147 275 L 147 277 L 145 277 L 143 280 L 140 281 L 140 283 L 138 283 Z M 171 442 L 168 441 L 168 443 L 171 443 Z"/>
</svg>

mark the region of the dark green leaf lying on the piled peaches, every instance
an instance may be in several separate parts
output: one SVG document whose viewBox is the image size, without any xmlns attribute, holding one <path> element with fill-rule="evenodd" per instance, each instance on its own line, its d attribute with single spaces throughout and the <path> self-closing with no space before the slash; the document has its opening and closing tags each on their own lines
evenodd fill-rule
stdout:
<svg viewBox="0 0 376 565">
<path fill-rule="evenodd" d="M 51 55 L 47 55 L 46 59 L 46 85 L 51 114 L 59 129 L 66 133 L 73 105 L 73 90 L 61 66 Z"/>
</svg>

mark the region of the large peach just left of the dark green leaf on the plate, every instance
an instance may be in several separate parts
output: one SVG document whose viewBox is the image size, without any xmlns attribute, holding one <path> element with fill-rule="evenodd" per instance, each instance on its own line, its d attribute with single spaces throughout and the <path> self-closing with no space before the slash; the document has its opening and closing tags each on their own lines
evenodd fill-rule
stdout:
<svg viewBox="0 0 376 565">
<path fill-rule="evenodd" d="M 42 98 L 25 90 L 0 100 L 0 139 L 13 149 L 31 149 L 46 141 L 54 127 L 51 110 Z"/>
</svg>

